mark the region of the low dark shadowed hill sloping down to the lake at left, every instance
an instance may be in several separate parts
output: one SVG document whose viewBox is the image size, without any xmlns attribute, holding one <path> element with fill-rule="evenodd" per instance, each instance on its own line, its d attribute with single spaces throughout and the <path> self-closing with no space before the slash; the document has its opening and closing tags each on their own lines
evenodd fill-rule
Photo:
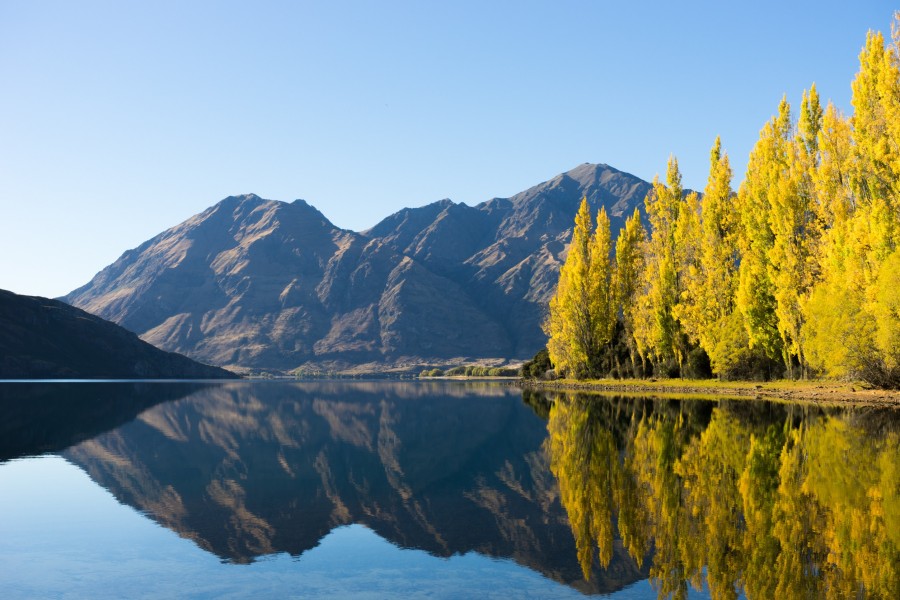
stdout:
<svg viewBox="0 0 900 600">
<path fill-rule="evenodd" d="M 0 290 L 0 379 L 234 377 L 63 302 Z"/>
</svg>

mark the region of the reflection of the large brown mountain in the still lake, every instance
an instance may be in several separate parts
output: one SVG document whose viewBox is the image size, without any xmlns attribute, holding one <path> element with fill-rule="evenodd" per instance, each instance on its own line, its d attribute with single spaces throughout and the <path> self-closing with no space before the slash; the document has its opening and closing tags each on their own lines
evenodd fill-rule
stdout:
<svg viewBox="0 0 900 600">
<path fill-rule="evenodd" d="M 584 579 L 546 435 L 497 386 L 243 383 L 160 404 L 63 455 L 232 562 L 297 556 L 359 523 L 437 556 L 512 558 L 585 592 L 645 578 L 617 541 L 609 568 Z"/>
</svg>

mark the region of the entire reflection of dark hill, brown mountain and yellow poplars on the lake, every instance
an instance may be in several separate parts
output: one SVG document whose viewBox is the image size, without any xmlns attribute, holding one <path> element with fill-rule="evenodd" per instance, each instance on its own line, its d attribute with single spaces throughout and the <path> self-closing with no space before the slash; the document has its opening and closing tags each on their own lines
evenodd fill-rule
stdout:
<svg viewBox="0 0 900 600">
<path fill-rule="evenodd" d="M 0 386 L 0 463 L 62 451 L 223 561 L 360 524 L 585 593 L 900 598 L 898 442 L 897 410 L 485 383 Z"/>
</svg>

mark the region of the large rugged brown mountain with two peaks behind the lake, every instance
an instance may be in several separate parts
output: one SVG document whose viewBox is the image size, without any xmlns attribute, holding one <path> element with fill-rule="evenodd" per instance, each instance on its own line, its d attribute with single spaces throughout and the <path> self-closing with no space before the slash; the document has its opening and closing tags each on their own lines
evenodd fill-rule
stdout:
<svg viewBox="0 0 900 600">
<path fill-rule="evenodd" d="M 650 184 L 584 164 L 511 198 L 442 200 L 371 229 L 302 200 L 233 196 L 63 298 L 220 366 L 381 371 L 531 357 L 582 197 L 612 227 Z"/>
</svg>

